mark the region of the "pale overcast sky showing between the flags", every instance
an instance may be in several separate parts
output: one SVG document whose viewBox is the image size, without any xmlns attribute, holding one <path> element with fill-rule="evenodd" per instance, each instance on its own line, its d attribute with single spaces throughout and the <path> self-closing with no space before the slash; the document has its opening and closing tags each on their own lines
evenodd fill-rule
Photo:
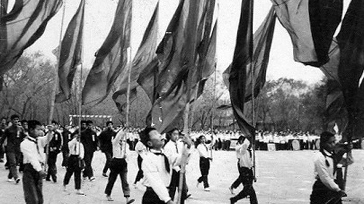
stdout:
<svg viewBox="0 0 364 204">
<path fill-rule="evenodd" d="M 159 39 L 177 8 L 179 0 L 160 0 L 159 11 Z M 344 7 L 350 0 L 344 0 Z M 65 20 L 63 34 L 68 23 L 78 8 L 80 0 L 65 0 Z M 92 66 L 94 53 L 106 38 L 118 0 L 86 0 L 86 16 L 84 25 L 84 64 Z M 237 25 L 240 17 L 241 0 L 219 0 L 219 25 L 217 40 L 218 70 L 220 73 L 231 63 L 234 52 Z M 136 53 L 144 30 L 153 14 L 157 0 L 133 0 L 132 19 L 132 55 Z M 262 23 L 272 3 L 270 0 L 254 1 L 254 30 Z M 41 50 L 52 60 L 55 57 L 51 51 L 58 46 L 63 8 L 48 23 L 44 35 L 32 45 L 28 51 Z M 273 37 L 272 50 L 267 71 L 268 79 L 288 77 L 302 79 L 309 83 L 320 81 L 323 77 L 317 68 L 304 66 L 293 61 L 292 44 L 288 33 L 277 20 Z"/>
</svg>

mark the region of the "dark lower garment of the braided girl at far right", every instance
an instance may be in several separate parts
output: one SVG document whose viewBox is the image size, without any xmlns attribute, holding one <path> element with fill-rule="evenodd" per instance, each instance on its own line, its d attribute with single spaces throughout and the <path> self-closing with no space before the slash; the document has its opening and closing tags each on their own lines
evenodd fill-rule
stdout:
<svg viewBox="0 0 364 204">
<path fill-rule="evenodd" d="M 341 204 L 341 194 L 331 191 L 320 180 L 316 180 L 310 195 L 310 204 Z"/>
</svg>

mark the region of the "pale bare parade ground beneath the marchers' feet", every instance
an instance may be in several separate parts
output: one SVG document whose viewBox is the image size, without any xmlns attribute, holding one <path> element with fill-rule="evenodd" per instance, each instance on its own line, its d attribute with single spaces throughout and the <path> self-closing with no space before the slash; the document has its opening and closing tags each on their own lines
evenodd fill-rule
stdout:
<svg viewBox="0 0 364 204">
<path fill-rule="evenodd" d="M 254 188 L 260 204 L 308 204 L 312 189 L 313 156 L 317 151 L 257 151 L 257 183 Z M 128 181 L 131 196 L 136 204 L 140 204 L 144 193 L 141 183 L 134 188 L 137 162 L 135 152 L 128 155 Z M 355 163 L 349 166 L 346 192 L 348 197 L 343 199 L 344 204 L 364 203 L 364 150 L 353 150 Z M 104 189 L 107 178 L 102 176 L 105 162 L 104 154 L 95 152 L 92 162 L 95 181 L 82 181 L 82 190 L 85 195 L 76 195 L 74 180 L 71 178 L 68 191 L 62 188 L 63 177 L 66 172 L 61 167 L 62 155 L 58 157 L 58 182 L 43 182 L 43 195 L 45 204 L 122 204 L 125 203 L 121 190 L 120 179 L 115 183 L 111 197 L 114 201 L 106 200 Z M 190 163 L 187 165 L 187 184 L 191 197 L 186 204 L 229 204 L 230 194 L 228 187 L 238 176 L 237 159 L 234 151 L 214 151 L 213 162 L 210 167 L 210 192 L 203 190 L 202 184 L 197 188 L 197 178 L 200 176 L 198 167 L 198 153 L 193 152 Z M 8 170 L 4 163 L 0 164 L 0 203 L 24 204 L 22 181 L 19 184 L 7 181 Z M 22 175 L 20 176 L 22 177 Z M 235 190 L 238 193 L 240 188 Z M 248 204 L 244 199 L 237 203 Z"/>
</svg>

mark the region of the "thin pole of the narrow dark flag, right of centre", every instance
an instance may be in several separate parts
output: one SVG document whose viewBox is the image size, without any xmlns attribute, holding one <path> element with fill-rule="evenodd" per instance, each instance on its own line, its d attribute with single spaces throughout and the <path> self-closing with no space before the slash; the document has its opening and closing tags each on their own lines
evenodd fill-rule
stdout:
<svg viewBox="0 0 364 204">
<path fill-rule="evenodd" d="M 250 75 L 252 77 L 252 122 L 253 122 L 253 127 L 255 129 L 256 126 L 256 120 L 255 120 L 255 101 L 254 101 L 254 83 L 255 83 L 255 78 L 254 78 L 254 70 L 253 70 L 253 46 L 254 46 L 254 42 L 253 42 L 253 11 L 254 11 L 254 0 L 251 0 L 252 6 L 250 7 L 250 15 L 252 16 L 252 20 L 250 21 L 250 39 L 249 39 L 249 58 L 250 58 Z M 254 134 L 252 135 L 252 148 L 253 148 L 253 167 L 254 167 L 254 177 L 256 176 L 256 155 L 255 155 L 255 130 L 254 130 Z"/>
</svg>

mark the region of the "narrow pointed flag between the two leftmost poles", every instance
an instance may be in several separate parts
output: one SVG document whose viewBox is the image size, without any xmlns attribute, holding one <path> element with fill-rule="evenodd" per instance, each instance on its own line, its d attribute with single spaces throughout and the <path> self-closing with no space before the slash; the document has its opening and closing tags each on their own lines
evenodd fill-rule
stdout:
<svg viewBox="0 0 364 204">
<path fill-rule="evenodd" d="M 62 103 L 71 98 L 71 87 L 77 66 L 81 63 L 82 33 L 85 1 L 81 0 L 77 12 L 72 17 L 64 34 L 58 66 L 60 93 L 55 102 Z"/>
</svg>

